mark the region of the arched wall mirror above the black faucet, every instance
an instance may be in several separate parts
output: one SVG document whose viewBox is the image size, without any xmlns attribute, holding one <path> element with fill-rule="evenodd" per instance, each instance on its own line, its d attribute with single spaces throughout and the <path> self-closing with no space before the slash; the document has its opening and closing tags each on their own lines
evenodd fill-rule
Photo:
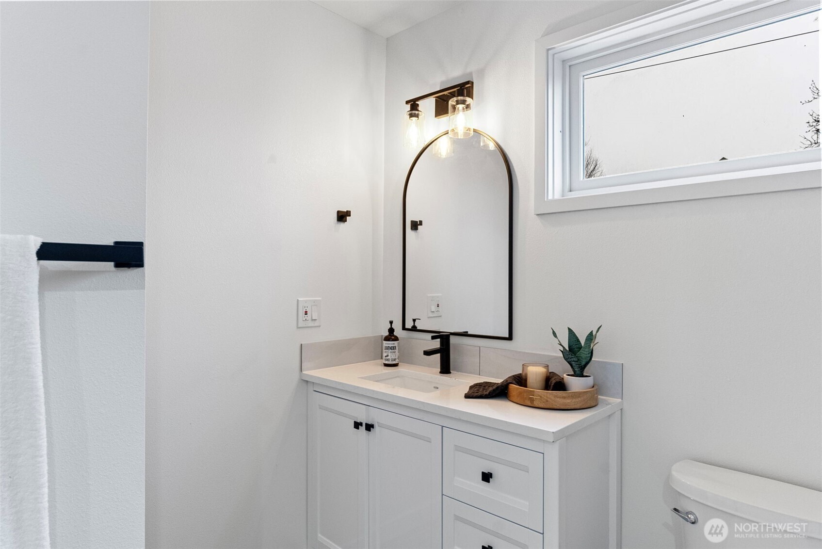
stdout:
<svg viewBox="0 0 822 549">
<path fill-rule="evenodd" d="M 444 131 L 414 159 L 403 192 L 403 330 L 511 339 L 513 182 L 483 131 Z"/>
</svg>

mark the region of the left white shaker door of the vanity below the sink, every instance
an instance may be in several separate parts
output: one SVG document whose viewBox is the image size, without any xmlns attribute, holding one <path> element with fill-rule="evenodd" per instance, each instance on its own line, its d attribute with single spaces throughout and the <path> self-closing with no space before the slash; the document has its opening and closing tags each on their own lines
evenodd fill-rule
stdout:
<svg viewBox="0 0 822 549">
<path fill-rule="evenodd" d="M 308 441 L 308 542 L 315 549 L 368 547 L 368 407 L 314 393 Z"/>
</svg>

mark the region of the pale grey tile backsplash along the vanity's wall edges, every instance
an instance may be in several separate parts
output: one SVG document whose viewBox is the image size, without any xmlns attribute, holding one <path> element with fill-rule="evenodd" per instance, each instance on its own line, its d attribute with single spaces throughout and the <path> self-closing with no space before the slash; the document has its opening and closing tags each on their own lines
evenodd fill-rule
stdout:
<svg viewBox="0 0 822 549">
<path fill-rule="evenodd" d="M 431 368 L 440 367 L 438 355 L 426 357 L 423 349 L 437 347 L 438 341 L 404 337 L 399 339 L 399 360 Z M 318 370 L 357 362 L 379 360 L 382 336 L 334 339 L 302 344 L 302 371 Z M 544 362 L 551 371 L 570 373 L 570 367 L 559 355 L 532 353 L 480 345 L 451 344 L 451 371 L 503 379 L 521 370 L 523 362 Z M 612 399 L 622 398 L 622 363 L 594 359 L 588 371 L 596 380 L 599 394 Z"/>
</svg>

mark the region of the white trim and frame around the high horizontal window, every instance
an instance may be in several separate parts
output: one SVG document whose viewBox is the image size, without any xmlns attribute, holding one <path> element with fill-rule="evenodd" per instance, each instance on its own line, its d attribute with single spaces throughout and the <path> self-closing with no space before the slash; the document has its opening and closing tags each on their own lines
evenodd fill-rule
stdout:
<svg viewBox="0 0 822 549">
<path fill-rule="evenodd" d="M 770 18 L 774 13 L 803 12 L 814 5 L 815 2 L 801 0 L 695 0 L 647 13 L 647 5 L 639 2 L 538 39 L 534 213 L 822 187 L 820 149 L 733 159 L 721 164 L 663 168 L 640 173 L 642 177 L 638 179 L 644 178 L 644 182 L 593 191 L 570 192 L 567 187 L 570 181 L 569 60 L 588 61 L 729 17 L 749 14 L 746 19 L 755 21 L 757 17 Z M 781 164 L 773 165 L 774 158 Z M 648 182 L 649 173 L 658 173 L 658 180 Z M 611 177 L 624 181 L 625 175 Z"/>
</svg>

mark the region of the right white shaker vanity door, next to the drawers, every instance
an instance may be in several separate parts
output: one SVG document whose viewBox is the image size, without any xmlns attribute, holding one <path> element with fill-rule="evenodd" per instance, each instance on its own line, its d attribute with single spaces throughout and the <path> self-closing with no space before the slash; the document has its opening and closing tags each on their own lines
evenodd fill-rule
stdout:
<svg viewBox="0 0 822 549">
<path fill-rule="evenodd" d="M 441 547 L 442 427 L 369 408 L 369 547 Z"/>
</svg>

